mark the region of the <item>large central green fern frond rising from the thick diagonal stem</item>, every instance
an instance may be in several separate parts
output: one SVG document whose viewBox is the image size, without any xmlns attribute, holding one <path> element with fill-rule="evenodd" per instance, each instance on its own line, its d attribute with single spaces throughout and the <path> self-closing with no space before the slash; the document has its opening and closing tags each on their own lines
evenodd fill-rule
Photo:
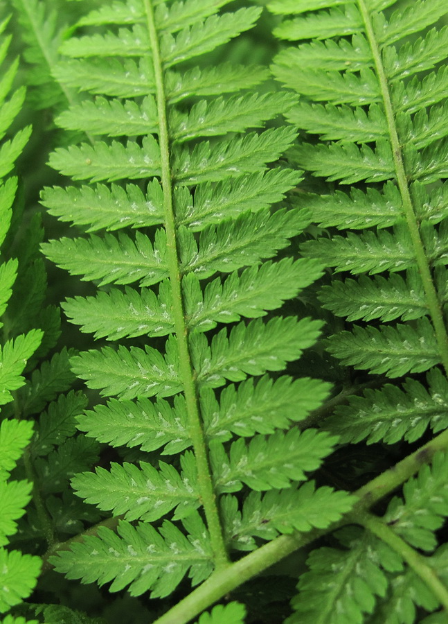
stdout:
<svg viewBox="0 0 448 624">
<path fill-rule="evenodd" d="M 259 90 L 259 67 L 190 63 L 260 14 L 218 12 L 226 4 L 104 2 L 76 24 L 55 69 L 84 93 L 57 123 L 87 138 L 57 148 L 50 164 L 90 184 L 44 191 L 51 214 L 85 231 L 44 252 L 98 288 L 66 300 L 70 320 L 120 340 L 72 359 L 89 388 L 110 397 L 79 427 L 139 447 L 142 461 L 73 478 L 79 496 L 123 519 L 51 562 L 133 595 L 167 596 L 187 573 L 198 584 L 262 540 L 328 526 L 352 500 L 300 485 L 337 438 L 291 425 L 321 405 L 328 384 L 269 376 L 314 343 L 321 322 L 262 317 L 322 269 L 275 259 L 310 223 L 306 208 L 278 206 L 298 173 L 267 166 L 296 132 L 262 130 L 295 97 Z"/>
</svg>

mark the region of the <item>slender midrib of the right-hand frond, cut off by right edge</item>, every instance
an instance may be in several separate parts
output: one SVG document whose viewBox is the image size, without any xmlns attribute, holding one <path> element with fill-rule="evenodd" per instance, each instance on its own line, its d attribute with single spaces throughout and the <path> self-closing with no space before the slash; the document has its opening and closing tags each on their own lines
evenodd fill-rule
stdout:
<svg viewBox="0 0 448 624">
<path fill-rule="evenodd" d="M 395 116 L 393 114 L 393 105 L 391 101 L 391 94 L 388 89 L 388 83 L 386 73 L 382 64 L 381 52 L 375 40 L 375 33 L 373 32 L 373 25 L 370 19 L 368 9 L 366 7 L 365 0 L 358 0 L 359 10 L 361 17 L 364 20 L 364 26 L 366 27 L 366 36 L 372 51 L 373 61 L 375 64 L 375 71 L 379 80 L 379 87 L 382 93 L 382 99 L 384 103 L 384 112 L 386 114 L 386 121 L 388 125 L 388 132 L 391 138 L 391 148 L 393 154 L 393 162 L 395 167 L 395 175 L 397 177 L 398 188 L 402 196 L 404 216 L 409 228 L 409 234 L 415 251 L 415 258 L 417 260 L 418 270 L 422 278 L 422 284 L 425 295 L 427 297 L 429 314 L 431 315 L 431 321 L 433 323 L 434 333 L 438 343 L 440 359 L 442 365 L 445 368 L 445 374 L 448 376 L 448 334 L 443 320 L 442 308 L 438 300 L 436 287 L 434 286 L 431 276 L 431 269 L 427 261 L 427 255 L 424 250 L 424 245 L 420 236 L 418 223 L 415 218 L 415 212 L 413 209 L 413 203 L 411 199 L 411 193 L 409 190 L 409 184 L 406 177 L 406 171 L 402 156 L 402 146 L 398 137 L 397 126 L 395 124 Z"/>
</svg>

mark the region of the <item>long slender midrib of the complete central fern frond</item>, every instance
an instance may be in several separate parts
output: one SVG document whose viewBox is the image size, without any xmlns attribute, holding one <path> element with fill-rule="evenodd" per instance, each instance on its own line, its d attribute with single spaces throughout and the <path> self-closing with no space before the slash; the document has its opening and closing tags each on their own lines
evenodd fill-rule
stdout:
<svg viewBox="0 0 448 624">
<path fill-rule="evenodd" d="M 152 0 L 144 0 L 147 28 L 150 33 L 150 41 L 153 51 L 154 76 L 156 85 L 156 101 L 159 114 L 159 144 L 161 151 L 161 183 L 163 189 L 163 209 L 165 214 L 165 230 L 167 238 L 167 258 L 168 272 L 170 275 L 170 285 L 172 288 L 172 315 L 174 319 L 174 329 L 177 336 L 179 348 L 179 369 L 183 381 L 183 392 L 186 399 L 186 410 L 188 415 L 188 430 L 192 440 L 195 458 L 197 462 L 199 492 L 201 503 L 204 505 L 208 530 L 210 532 L 210 542 L 215 556 L 215 566 L 219 569 L 229 564 L 224 535 L 219 519 L 219 511 L 216 504 L 215 490 L 211 477 L 208 454 L 204 431 L 199 415 L 199 403 L 197 400 L 197 390 L 195 378 L 188 347 L 188 330 L 183 311 L 183 299 L 181 291 L 181 274 L 179 271 L 179 255 L 177 250 L 176 224 L 172 203 L 172 178 L 170 167 L 170 146 L 168 138 L 168 123 L 166 115 L 165 87 L 163 84 L 163 69 L 161 55 L 159 51 L 159 39 L 157 37 L 154 21 L 154 10 Z"/>
</svg>

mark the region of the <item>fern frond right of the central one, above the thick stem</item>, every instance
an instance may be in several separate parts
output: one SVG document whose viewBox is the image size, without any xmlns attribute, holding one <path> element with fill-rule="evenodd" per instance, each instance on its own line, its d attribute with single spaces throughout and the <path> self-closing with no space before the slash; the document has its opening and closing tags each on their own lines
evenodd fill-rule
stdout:
<svg viewBox="0 0 448 624">
<path fill-rule="evenodd" d="M 337 183 L 334 193 L 298 198 L 321 227 L 341 232 L 305 242 L 304 254 L 355 276 L 334 279 L 319 295 L 326 309 L 353 323 L 330 337 L 330 353 L 375 374 L 429 370 L 435 379 L 435 365 L 448 373 L 442 316 L 448 32 L 438 28 L 446 5 L 394 5 L 271 3 L 285 15 L 276 34 L 296 42 L 280 51 L 272 69 L 301 97 L 286 114 L 308 135 L 292 150 L 292 162 Z M 346 190 L 347 184 L 354 186 Z M 412 380 L 403 390 L 367 391 L 329 426 L 345 440 L 416 440 L 432 423 L 431 398 L 420 401 L 421 395 Z"/>
</svg>

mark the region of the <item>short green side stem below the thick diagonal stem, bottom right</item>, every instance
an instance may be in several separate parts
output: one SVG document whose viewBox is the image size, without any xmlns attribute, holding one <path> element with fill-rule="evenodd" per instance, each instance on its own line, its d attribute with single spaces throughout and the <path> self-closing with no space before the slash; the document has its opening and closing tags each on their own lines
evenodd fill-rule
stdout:
<svg viewBox="0 0 448 624">
<path fill-rule="evenodd" d="M 436 571 L 427 564 L 427 557 L 420 555 L 412 546 L 406 544 L 406 541 L 373 514 L 362 514 L 356 517 L 356 522 L 364 526 L 370 532 L 373 532 L 373 534 L 384 541 L 385 544 L 391 546 L 415 574 L 420 577 L 424 584 L 429 587 L 448 613 L 448 588 L 445 587 L 440 578 L 438 578 Z"/>
</svg>

